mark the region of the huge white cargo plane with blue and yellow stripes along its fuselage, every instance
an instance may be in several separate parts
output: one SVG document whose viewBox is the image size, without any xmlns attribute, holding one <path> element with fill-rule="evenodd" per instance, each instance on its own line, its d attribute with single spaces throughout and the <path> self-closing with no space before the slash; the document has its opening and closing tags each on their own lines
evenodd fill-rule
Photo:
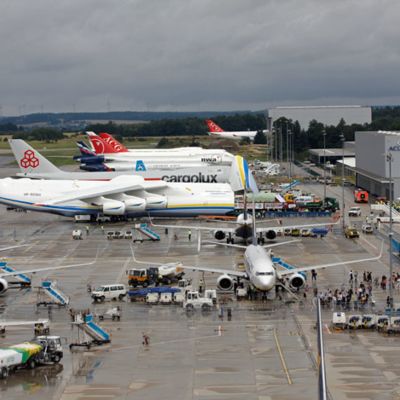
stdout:
<svg viewBox="0 0 400 400">
<path fill-rule="evenodd" d="M 110 181 L 0 179 L 0 203 L 64 216 L 225 215 L 234 193 L 225 183 L 170 183 L 121 175 Z"/>
</svg>

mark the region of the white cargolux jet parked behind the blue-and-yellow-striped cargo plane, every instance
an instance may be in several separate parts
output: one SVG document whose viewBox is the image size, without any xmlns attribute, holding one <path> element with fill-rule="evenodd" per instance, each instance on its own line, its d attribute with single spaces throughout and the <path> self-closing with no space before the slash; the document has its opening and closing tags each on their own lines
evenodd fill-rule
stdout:
<svg viewBox="0 0 400 400">
<path fill-rule="evenodd" d="M 179 163 L 174 164 L 170 162 L 169 164 L 163 164 L 162 162 L 148 163 L 147 161 L 145 163 L 142 160 L 140 163 L 130 164 L 130 170 L 127 170 L 127 165 L 125 163 L 125 167 L 122 171 L 113 171 L 104 164 L 104 159 L 102 159 L 97 160 L 98 163 L 95 164 L 97 170 L 93 172 L 70 172 L 57 168 L 22 139 L 10 139 L 9 143 L 21 170 L 20 173 L 17 173 L 17 176 L 36 179 L 106 181 L 123 174 L 132 174 L 143 176 L 145 180 L 162 179 L 167 182 L 227 183 L 231 178 L 231 169 L 236 168 L 237 164 L 236 158 L 233 159 L 230 166 L 213 164 L 200 165 L 200 163 L 198 163 L 197 166 L 185 164 L 184 167 Z M 240 157 L 239 162 L 245 161 Z M 106 168 L 99 171 L 99 165 L 106 165 Z"/>
</svg>

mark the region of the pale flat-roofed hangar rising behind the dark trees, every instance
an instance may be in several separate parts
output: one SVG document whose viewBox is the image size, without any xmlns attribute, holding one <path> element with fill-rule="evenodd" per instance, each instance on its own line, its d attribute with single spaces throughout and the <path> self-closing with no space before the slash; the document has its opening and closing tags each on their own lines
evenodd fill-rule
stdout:
<svg viewBox="0 0 400 400">
<path fill-rule="evenodd" d="M 347 125 L 369 124 L 372 120 L 371 107 L 367 106 L 295 106 L 274 107 L 268 110 L 272 123 L 281 117 L 299 121 L 302 129 L 308 129 L 313 119 L 324 125 L 336 126 L 343 118 Z"/>
</svg>

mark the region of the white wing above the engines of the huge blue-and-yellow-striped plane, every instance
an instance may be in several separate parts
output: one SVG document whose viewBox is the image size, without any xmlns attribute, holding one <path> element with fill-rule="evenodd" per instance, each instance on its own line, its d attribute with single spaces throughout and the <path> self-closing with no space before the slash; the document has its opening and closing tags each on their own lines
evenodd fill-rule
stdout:
<svg viewBox="0 0 400 400">
<path fill-rule="evenodd" d="M 134 190 L 156 189 L 166 186 L 164 181 L 145 182 L 140 176 L 121 175 L 111 181 L 96 185 L 88 189 L 77 188 L 74 191 L 67 192 L 52 200 L 46 201 L 46 204 L 59 204 L 72 200 L 88 200 L 99 196 L 107 196 L 110 194 L 127 193 Z"/>
</svg>

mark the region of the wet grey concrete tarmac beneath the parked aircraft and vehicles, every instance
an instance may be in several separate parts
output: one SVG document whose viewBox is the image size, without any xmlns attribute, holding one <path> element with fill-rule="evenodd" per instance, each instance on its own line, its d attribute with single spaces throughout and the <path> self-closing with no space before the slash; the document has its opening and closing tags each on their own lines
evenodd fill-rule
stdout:
<svg viewBox="0 0 400 400">
<path fill-rule="evenodd" d="M 221 320 L 217 310 L 187 314 L 173 305 L 127 301 L 93 304 L 86 290 L 88 284 L 127 284 L 125 271 L 134 265 L 129 240 L 107 240 L 98 225 L 91 225 L 83 240 L 72 240 L 71 232 L 78 224 L 53 215 L 0 207 L 0 218 L 1 247 L 16 242 L 30 244 L 4 254 L 16 268 L 85 262 L 100 252 L 94 266 L 37 274 L 32 289 L 10 289 L 0 297 L 2 318 L 48 317 L 51 333 L 66 338 L 62 365 L 16 372 L 0 381 L 1 399 L 317 399 L 315 310 L 310 291 L 305 304 L 236 301 L 228 296 L 222 307 L 232 309 L 229 321 L 226 314 Z M 106 226 L 105 231 L 128 230 L 131 226 Z M 85 224 L 79 227 L 85 231 Z M 177 241 L 171 232 L 159 233 L 159 243 L 134 245 L 135 256 L 149 261 L 149 265 L 151 260 L 180 260 L 188 265 L 229 269 L 243 262 L 240 249 L 204 245 L 198 254 L 194 230 L 190 242 L 185 231 L 178 232 Z M 354 241 L 333 232 L 323 239 L 304 238 L 281 246 L 274 253 L 294 265 L 317 265 L 376 255 L 379 246 L 375 235 L 362 235 Z M 351 269 L 359 276 L 364 270 L 387 275 L 387 255 Z M 347 285 L 349 270 L 344 266 L 319 271 L 318 288 Z M 198 282 L 198 273 L 188 275 Z M 204 277 L 206 286 L 215 288 L 217 276 Z M 45 278 L 57 280 L 71 297 L 74 309 L 90 308 L 100 313 L 111 305 L 120 305 L 120 322 L 101 323 L 112 335 L 111 344 L 70 352 L 68 343 L 76 341 L 77 331 L 70 324 L 68 310 L 36 308 L 35 286 Z M 376 308 L 382 309 L 387 293 L 376 291 Z M 400 338 L 366 331 L 336 333 L 328 327 L 332 310 L 324 310 L 323 317 L 331 398 L 400 398 Z M 10 328 L 1 337 L 1 346 L 29 340 L 32 331 Z M 149 346 L 142 344 L 143 333 L 150 337 Z"/>
</svg>

